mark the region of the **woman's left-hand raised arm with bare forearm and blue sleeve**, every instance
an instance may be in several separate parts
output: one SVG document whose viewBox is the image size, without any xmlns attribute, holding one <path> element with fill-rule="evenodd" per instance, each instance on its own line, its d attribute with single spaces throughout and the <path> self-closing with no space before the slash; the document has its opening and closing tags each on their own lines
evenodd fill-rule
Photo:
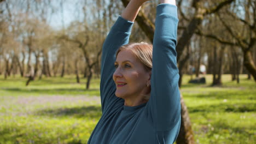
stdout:
<svg viewBox="0 0 256 144">
<path fill-rule="evenodd" d="M 121 16 L 112 26 L 103 44 L 101 58 L 101 105 L 102 112 L 108 105 L 114 105 L 119 98 L 115 97 L 114 73 L 115 52 L 122 45 L 129 43 L 131 28 L 141 5 L 148 0 L 131 0 Z"/>
</svg>

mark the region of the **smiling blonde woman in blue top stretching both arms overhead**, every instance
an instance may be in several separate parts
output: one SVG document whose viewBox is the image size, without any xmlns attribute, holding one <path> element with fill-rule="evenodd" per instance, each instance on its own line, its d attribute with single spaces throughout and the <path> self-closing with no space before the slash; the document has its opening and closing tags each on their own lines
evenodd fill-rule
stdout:
<svg viewBox="0 0 256 144">
<path fill-rule="evenodd" d="M 102 117 L 88 143 L 173 143 L 177 138 L 177 7 L 174 0 L 160 0 L 156 8 L 152 62 L 152 45 L 128 44 L 133 21 L 146 1 L 131 0 L 104 42 Z"/>
</svg>

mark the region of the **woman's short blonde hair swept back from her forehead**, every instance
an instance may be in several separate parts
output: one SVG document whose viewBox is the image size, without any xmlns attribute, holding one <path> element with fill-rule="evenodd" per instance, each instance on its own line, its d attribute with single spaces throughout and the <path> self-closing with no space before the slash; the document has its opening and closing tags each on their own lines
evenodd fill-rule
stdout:
<svg viewBox="0 0 256 144">
<path fill-rule="evenodd" d="M 153 65 L 152 64 L 152 57 L 153 57 L 152 44 L 141 42 L 141 43 L 130 43 L 130 44 L 123 45 L 119 47 L 117 53 L 115 54 L 115 57 L 118 56 L 118 53 L 120 51 L 124 51 L 124 50 L 130 50 L 132 54 L 136 57 L 136 59 L 142 63 L 146 71 L 152 70 L 152 65 Z M 150 91 L 151 91 L 151 88 L 150 88 Z M 150 97 L 150 93 L 146 94 L 144 96 L 144 99 L 149 100 L 149 97 Z"/>
</svg>

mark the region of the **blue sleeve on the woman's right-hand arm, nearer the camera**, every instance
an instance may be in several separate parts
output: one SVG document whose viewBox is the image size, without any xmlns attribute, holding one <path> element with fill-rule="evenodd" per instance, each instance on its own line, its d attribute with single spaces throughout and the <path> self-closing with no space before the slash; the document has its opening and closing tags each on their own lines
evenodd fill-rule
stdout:
<svg viewBox="0 0 256 144">
<path fill-rule="evenodd" d="M 177 68 L 176 5 L 159 4 L 156 8 L 153 40 L 151 95 L 146 116 L 157 131 L 171 130 L 181 121 L 179 73 Z"/>
</svg>

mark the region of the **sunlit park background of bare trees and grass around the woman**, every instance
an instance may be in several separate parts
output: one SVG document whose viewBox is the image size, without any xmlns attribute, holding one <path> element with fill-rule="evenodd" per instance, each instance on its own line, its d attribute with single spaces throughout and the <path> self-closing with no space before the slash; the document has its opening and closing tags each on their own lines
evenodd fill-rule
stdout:
<svg viewBox="0 0 256 144">
<path fill-rule="evenodd" d="M 102 44 L 128 2 L 0 0 L 0 116 L 3 116 L 0 118 L 0 143 L 86 143 L 101 115 L 97 101 Z M 157 4 L 158 1 L 152 0 L 143 5 L 132 30 L 131 42 L 152 43 Z M 183 94 L 183 123 L 177 143 L 253 143 L 256 133 L 253 130 L 256 1 L 177 0 L 177 7 L 176 50 Z M 201 64 L 206 66 L 207 75 L 200 73 Z M 205 77 L 206 83 L 188 83 L 196 77 Z M 205 101 L 196 105 L 200 97 Z M 219 105 L 215 110 L 211 97 L 219 99 L 212 101 Z M 77 103 L 73 104 L 74 101 Z M 226 101 L 232 102 L 222 105 Z M 194 107 L 207 103 L 206 107 Z M 33 111 L 37 114 L 30 115 Z M 223 116 L 228 115 L 228 121 L 223 124 L 222 118 L 211 112 L 223 112 Z M 38 113 L 43 113 L 43 120 L 36 120 Z M 205 120 L 197 121 L 196 117 L 202 115 L 207 115 Z M 49 118 L 56 116 L 61 117 L 58 127 L 67 128 L 60 130 L 61 134 L 56 134 L 59 128 L 53 126 L 58 125 L 57 119 Z M 66 127 L 63 124 L 66 118 L 81 120 L 69 123 L 90 124 L 79 127 L 67 124 Z M 236 118 L 244 121 L 232 123 L 231 119 Z M 209 122 L 211 119 L 214 122 Z M 42 122 L 53 123 L 45 128 L 47 133 Z M 214 131 L 213 123 L 220 124 L 216 127 L 224 132 Z M 70 129 L 76 132 L 67 132 Z M 50 133 L 51 130 L 55 133 Z M 239 133 L 244 135 L 240 137 Z"/>
</svg>

